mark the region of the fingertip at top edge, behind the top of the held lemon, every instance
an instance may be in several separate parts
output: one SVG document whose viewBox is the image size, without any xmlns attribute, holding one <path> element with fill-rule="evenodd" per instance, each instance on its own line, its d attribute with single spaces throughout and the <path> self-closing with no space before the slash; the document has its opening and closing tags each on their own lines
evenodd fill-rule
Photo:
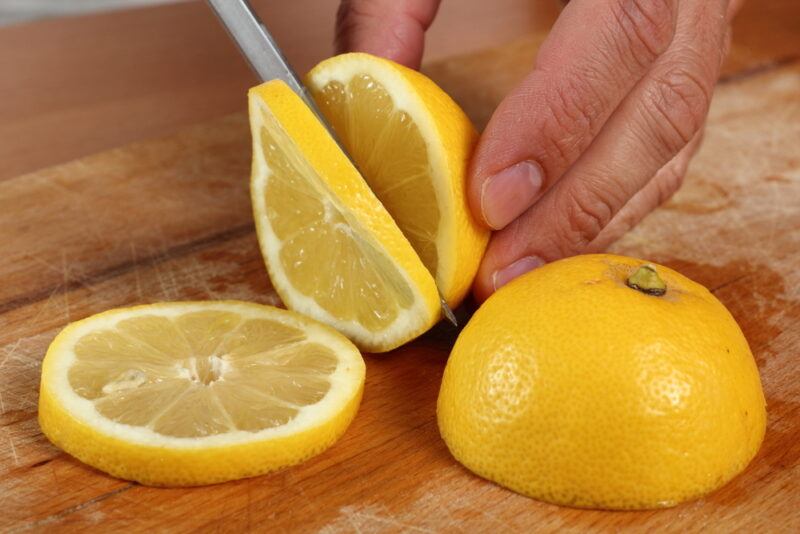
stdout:
<svg viewBox="0 0 800 534">
<path fill-rule="evenodd" d="M 336 52 L 368 52 L 414 69 L 439 0 L 343 0 L 336 15 Z"/>
</svg>

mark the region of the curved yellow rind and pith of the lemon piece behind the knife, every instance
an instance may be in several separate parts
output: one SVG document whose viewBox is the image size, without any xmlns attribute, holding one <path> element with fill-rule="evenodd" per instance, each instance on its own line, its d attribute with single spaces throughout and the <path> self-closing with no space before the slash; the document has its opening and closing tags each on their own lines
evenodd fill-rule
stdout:
<svg viewBox="0 0 800 534">
<path fill-rule="evenodd" d="M 467 168 L 478 141 L 475 126 L 461 107 L 424 74 L 394 61 L 360 52 L 326 59 L 308 73 L 306 83 L 315 98 L 321 98 L 323 81 L 331 75 L 329 73 L 335 75 L 342 67 L 348 70 L 360 68 L 361 72 L 382 83 L 389 78 L 402 80 L 404 96 L 413 102 L 414 110 L 425 111 L 435 131 L 427 142 L 434 144 L 431 148 L 440 156 L 447 188 L 446 203 L 440 206 L 445 208 L 440 224 L 446 227 L 437 240 L 439 272 L 436 273 L 436 283 L 447 304 L 455 308 L 472 286 L 490 233 L 472 216 L 467 201 Z"/>
</svg>

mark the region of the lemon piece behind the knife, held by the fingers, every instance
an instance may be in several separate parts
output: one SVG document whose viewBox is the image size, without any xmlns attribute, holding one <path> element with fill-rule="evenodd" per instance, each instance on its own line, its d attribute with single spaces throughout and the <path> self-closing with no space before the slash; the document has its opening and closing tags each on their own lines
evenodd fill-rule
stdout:
<svg viewBox="0 0 800 534">
<path fill-rule="evenodd" d="M 467 164 L 477 141 L 470 120 L 426 76 L 369 54 L 327 59 L 311 70 L 307 84 L 372 191 L 456 307 L 489 239 L 467 204 Z"/>
</svg>

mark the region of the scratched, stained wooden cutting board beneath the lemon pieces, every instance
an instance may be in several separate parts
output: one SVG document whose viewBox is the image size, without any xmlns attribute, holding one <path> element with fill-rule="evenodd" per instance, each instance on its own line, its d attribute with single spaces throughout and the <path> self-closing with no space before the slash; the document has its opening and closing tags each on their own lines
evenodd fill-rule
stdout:
<svg viewBox="0 0 800 534">
<path fill-rule="evenodd" d="M 681 192 L 613 246 L 707 285 L 741 324 L 768 401 L 764 445 L 716 493 L 670 510 L 539 503 L 472 476 L 438 437 L 456 333 L 366 356 L 358 417 L 285 471 L 196 489 L 116 480 L 36 422 L 40 362 L 71 320 L 177 299 L 277 303 L 252 229 L 241 113 L 0 182 L 0 531 L 529 532 L 800 529 L 800 5 L 737 22 L 704 147 Z M 430 64 L 477 123 L 524 74 L 540 31 Z M 98 135 L 102 135 L 98 133 Z"/>
</svg>

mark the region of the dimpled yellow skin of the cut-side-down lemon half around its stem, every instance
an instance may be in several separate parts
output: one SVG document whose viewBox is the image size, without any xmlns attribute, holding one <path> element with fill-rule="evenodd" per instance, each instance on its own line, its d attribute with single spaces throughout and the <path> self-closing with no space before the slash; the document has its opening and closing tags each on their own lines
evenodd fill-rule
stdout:
<svg viewBox="0 0 800 534">
<path fill-rule="evenodd" d="M 605 509 L 672 506 L 747 466 L 766 411 L 744 335 L 671 269 L 656 266 L 663 297 L 627 287 L 643 263 L 561 260 L 484 303 L 438 400 L 458 461 L 536 499 Z"/>
</svg>

